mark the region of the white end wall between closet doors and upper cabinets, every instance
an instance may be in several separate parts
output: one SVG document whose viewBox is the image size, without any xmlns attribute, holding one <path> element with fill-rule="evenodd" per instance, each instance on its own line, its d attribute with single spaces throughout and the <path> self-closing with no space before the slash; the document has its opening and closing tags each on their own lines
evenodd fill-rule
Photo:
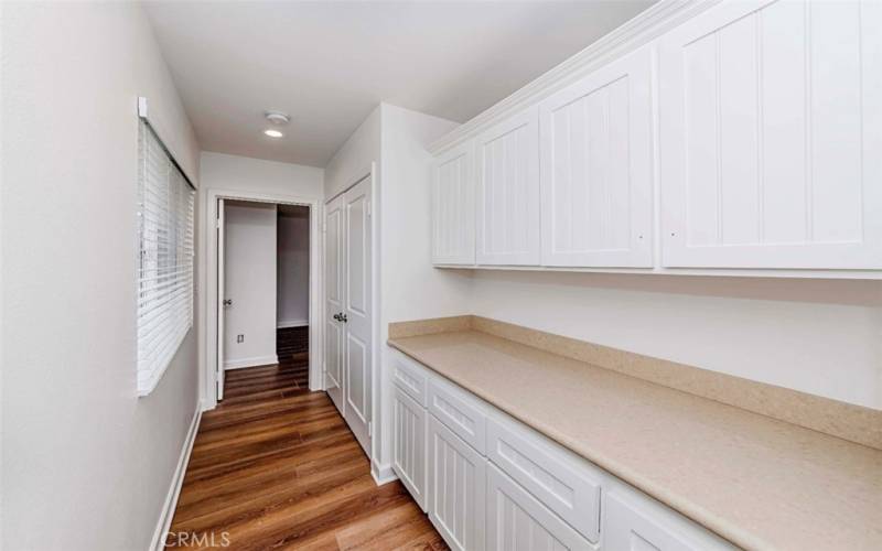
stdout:
<svg viewBox="0 0 882 551">
<path fill-rule="evenodd" d="M 429 143 L 458 126 L 456 122 L 381 105 L 383 177 L 379 188 L 380 220 L 380 324 L 383 352 L 379 403 L 391 419 L 390 349 L 386 346 L 390 322 L 458 315 L 470 307 L 471 274 L 435 270 L 431 264 L 431 161 Z M 385 396 L 383 393 L 385 392 Z M 375 402 L 376 403 L 376 402 Z M 378 462 L 391 462 L 391 434 L 379 434 Z"/>
</svg>

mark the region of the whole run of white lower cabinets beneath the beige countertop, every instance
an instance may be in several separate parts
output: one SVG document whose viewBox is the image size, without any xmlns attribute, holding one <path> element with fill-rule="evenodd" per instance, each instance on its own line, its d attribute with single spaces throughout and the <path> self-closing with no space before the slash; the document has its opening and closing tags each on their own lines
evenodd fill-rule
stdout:
<svg viewBox="0 0 882 551">
<path fill-rule="evenodd" d="M 451 549 L 735 549 L 419 363 L 407 364 L 392 391 L 392 468 Z M 427 395 L 428 404 L 413 398 Z"/>
</svg>

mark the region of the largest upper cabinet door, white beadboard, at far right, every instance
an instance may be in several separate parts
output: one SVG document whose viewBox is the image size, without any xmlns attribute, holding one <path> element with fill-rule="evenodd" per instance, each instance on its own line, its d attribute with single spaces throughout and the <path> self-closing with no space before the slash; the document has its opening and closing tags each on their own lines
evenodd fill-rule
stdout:
<svg viewBox="0 0 882 551">
<path fill-rule="evenodd" d="M 659 41 L 663 263 L 882 268 L 882 4 L 714 7 Z"/>
</svg>

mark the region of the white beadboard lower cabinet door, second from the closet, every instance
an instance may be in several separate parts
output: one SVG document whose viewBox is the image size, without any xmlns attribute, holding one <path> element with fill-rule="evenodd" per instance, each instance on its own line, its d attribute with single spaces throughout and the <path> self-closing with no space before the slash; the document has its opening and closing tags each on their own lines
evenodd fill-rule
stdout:
<svg viewBox="0 0 882 551">
<path fill-rule="evenodd" d="M 484 549 L 486 460 L 429 415 L 429 519 L 453 550 Z"/>
</svg>

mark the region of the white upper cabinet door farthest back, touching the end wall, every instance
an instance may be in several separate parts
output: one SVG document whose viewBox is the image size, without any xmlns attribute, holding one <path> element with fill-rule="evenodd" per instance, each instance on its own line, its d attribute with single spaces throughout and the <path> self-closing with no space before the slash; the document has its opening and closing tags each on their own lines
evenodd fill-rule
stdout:
<svg viewBox="0 0 882 551">
<path fill-rule="evenodd" d="M 475 263 L 474 141 L 439 156 L 432 181 L 432 263 Z"/>
</svg>

